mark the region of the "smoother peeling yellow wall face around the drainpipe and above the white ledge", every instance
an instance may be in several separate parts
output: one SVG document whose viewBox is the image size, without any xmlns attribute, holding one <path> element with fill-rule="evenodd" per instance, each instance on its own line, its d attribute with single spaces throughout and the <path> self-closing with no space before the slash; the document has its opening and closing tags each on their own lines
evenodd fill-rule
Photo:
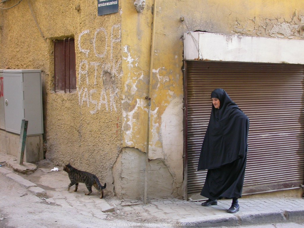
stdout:
<svg viewBox="0 0 304 228">
<path fill-rule="evenodd" d="M 123 146 L 149 153 L 166 164 L 173 177 L 172 196 L 183 192 L 183 41 L 188 31 L 303 39 L 303 6 L 292 1 L 165 1 L 155 10 L 153 75 L 149 81 L 153 0 L 137 13 L 122 2 Z M 183 16 L 185 21 L 181 21 Z M 137 44 L 137 45 L 136 45 Z M 151 107 L 148 121 L 149 94 Z M 150 126 L 147 140 L 147 124 Z M 121 162 L 125 164 L 123 161 Z M 144 167 L 144 161 L 141 161 Z M 149 180 L 157 174 L 150 172 Z M 116 182 L 117 183 L 117 182 Z M 157 191 L 157 190 L 155 190 Z M 159 191 L 159 196 L 162 196 Z"/>
</svg>

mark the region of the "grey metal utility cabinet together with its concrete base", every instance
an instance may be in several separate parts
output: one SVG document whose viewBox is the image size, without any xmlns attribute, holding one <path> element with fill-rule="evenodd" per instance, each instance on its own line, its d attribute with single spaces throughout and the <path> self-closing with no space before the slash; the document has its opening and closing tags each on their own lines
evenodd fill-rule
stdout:
<svg viewBox="0 0 304 228">
<path fill-rule="evenodd" d="M 1 71 L 0 71 L 1 72 Z M 40 70 L 3 70 L 4 113 L 0 111 L 0 120 L 5 122 L 5 129 L 0 129 L 0 146 L 7 154 L 17 156 L 21 121 L 28 121 L 25 162 L 43 159 L 43 113 Z M 2 126 L 3 124 L 1 124 Z M 1 128 L 0 126 L 0 128 Z M 3 126 L 2 126 L 3 128 Z"/>
</svg>

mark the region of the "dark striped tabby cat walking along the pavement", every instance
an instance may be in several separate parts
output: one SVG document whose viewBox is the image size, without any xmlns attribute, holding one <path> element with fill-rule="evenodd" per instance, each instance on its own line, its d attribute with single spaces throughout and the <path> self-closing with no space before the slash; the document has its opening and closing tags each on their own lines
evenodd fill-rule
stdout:
<svg viewBox="0 0 304 228">
<path fill-rule="evenodd" d="M 103 189 L 107 185 L 105 183 L 105 185 L 102 186 L 100 184 L 98 178 L 96 177 L 96 175 L 94 175 L 92 173 L 89 173 L 89 172 L 78 170 L 78 169 L 74 168 L 73 166 L 71 166 L 70 163 L 65 165 L 63 170 L 67 172 L 67 174 L 69 175 L 70 181 L 71 181 L 71 183 L 67 187 L 67 190 L 70 190 L 70 187 L 75 185 L 74 192 L 76 192 L 77 188 L 78 188 L 78 183 L 79 182 L 80 183 L 85 183 L 85 186 L 89 190 L 89 192 L 85 193 L 85 195 L 90 195 L 92 193 L 92 185 L 93 185 L 97 189 L 97 191 L 100 192 L 100 197 L 99 198 L 102 199 Z"/>
</svg>

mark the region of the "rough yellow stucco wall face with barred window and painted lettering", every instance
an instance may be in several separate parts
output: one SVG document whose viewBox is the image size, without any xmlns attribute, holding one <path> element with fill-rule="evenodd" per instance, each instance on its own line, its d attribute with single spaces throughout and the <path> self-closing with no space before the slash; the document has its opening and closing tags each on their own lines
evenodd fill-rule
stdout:
<svg viewBox="0 0 304 228">
<path fill-rule="evenodd" d="M 46 157 L 96 174 L 113 192 L 112 166 L 122 146 L 120 8 L 97 16 L 96 0 L 29 0 L 0 15 L 0 68 L 43 72 Z M 77 89 L 54 93 L 53 39 L 66 37 L 75 40 Z"/>
</svg>

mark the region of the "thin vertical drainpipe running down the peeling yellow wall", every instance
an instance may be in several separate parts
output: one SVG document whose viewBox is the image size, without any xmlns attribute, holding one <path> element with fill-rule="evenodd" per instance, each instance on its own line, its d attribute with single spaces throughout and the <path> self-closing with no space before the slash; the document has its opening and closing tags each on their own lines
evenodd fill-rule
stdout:
<svg viewBox="0 0 304 228">
<path fill-rule="evenodd" d="M 147 142 L 146 142 L 146 170 L 145 170 L 145 188 L 143 202 L 147 203 L 147 187 L 148 187 L 148 168 L 149 168 L 149 136 L 150 136 L 150 116 L 151 116 L 151 90 L 153 76 L 153 60 L 154 60 L 154 36 L 155 36 L 155 17 L 156 17 L 156 0 L 153 2 L 153 20 L 152 20 L 152 37 L 151 37 L 151 53 L 150 53 L 150 78 L 149 91 L 146 99 L 148 100 L 148 124 L 147 124 Z"/>
</svg>

